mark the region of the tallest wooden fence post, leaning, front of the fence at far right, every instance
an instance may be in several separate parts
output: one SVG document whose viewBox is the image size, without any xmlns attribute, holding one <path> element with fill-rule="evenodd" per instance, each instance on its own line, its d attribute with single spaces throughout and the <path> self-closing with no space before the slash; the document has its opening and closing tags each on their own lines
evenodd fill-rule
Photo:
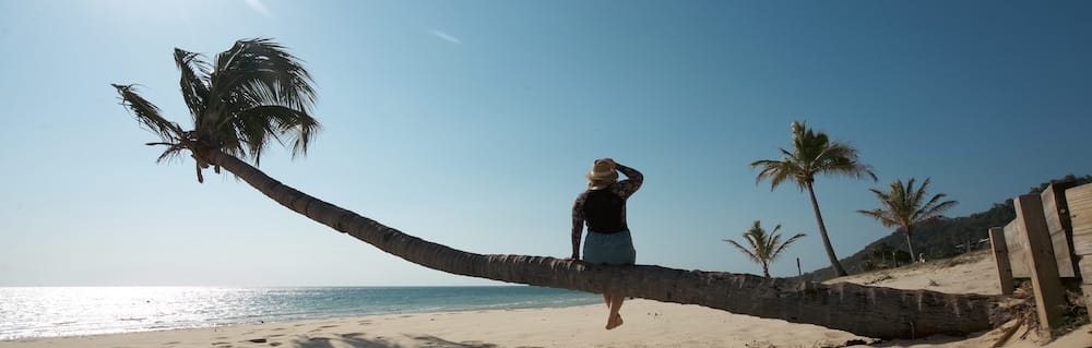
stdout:
<svg viewBox="0 0 1092 348">
<path fill-rule="evenodd" d="M 1016 200 L 1017 218 L 1024 224 L 1028 238 L 1028 260 L 1031 261 L 1031 284 L 1035 289 L 1035 310 L 1040 327 L 1049 333 L 1061 325 L 1061 307 L 1066 293 L 1058 276 L 1058 262 L 1054 256 L 1051 232 L 1043 214 L 1043 200 L 1038 194 L 1025 194 Z"/>
</svg>

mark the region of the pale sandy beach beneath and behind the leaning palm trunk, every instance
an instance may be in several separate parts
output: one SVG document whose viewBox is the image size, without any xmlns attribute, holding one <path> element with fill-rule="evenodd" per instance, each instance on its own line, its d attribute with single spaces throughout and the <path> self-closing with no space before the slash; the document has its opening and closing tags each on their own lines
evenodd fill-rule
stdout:
<svg viewBox="0 0 1092 348">
<path fill-rule="evenodd" d="M 946 292 L 997 293 L 992 260 L 980 253 L 904 269 L 851 276 L 842 280 L 894 288 Z M 941 272 L 942 271 L 942 272 Z M 583 305 L 556 309 L 395 314 L 332 320 L 263 323 L 82 337 L 0 341 L 0 347 L 47 348 L 372 348 L 372 347 L 990 347 L 1000 331 L 971 337 L 926 337 L 877 341 L 842 331 L 737 315 L 697 305 L 630 300 L 626 324 L 603 328 L 606 309 Z M 1020 336 L 1019 334 L 1017 336 Z M 1034 336 L 1012 338 L 1005 347 L 1040 347 Z M 1092 326 L 1046 347 L 1092 347 Z"/>
</svg>

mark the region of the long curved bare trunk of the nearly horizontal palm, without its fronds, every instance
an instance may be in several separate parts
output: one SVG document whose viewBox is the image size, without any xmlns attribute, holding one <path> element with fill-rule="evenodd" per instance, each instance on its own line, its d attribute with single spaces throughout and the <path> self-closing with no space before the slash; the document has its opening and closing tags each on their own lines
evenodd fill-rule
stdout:
<svg viewBox="0 0 1092 348">
<path fill-rule="evenodd" d="M 289 188 L 221 152 L 209 161 L 314 221 L 429 268 L 508 283 L 699 304 L 876 338 L 966 335 L 989 328 L 998 297 L 762 278 L 654 265 L 590 266 L 554 257 L 483 255 L 429 242 Z"/>
</svg>

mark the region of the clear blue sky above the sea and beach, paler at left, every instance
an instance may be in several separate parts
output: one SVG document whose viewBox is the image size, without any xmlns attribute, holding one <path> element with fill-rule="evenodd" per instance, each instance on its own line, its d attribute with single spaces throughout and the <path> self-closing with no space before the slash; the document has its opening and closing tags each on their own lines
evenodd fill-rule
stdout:
<svg viewBox="0 0 1092 348">
<path fill-rule="evenodd" d="M 478 285 L 387 255 L 155 140 L 110 83 L 189 116 L 171 49 L 272 37 L 314 75 L 324 129 L 269 175 L 428 240 L 563 257 L 594 158 L 645 173 L 639 263 L 760 273 L 721 240 L 808 233 L 805 194 L 756 185 L 806 120 L 879 182 L 820 178 L 834 248 L 891 230 L 868 188 L 933 178 L 988 208 L 1092 173 L 1092 3 L 972 1 L 0 0 L 0 286 Z"/>
</svg>

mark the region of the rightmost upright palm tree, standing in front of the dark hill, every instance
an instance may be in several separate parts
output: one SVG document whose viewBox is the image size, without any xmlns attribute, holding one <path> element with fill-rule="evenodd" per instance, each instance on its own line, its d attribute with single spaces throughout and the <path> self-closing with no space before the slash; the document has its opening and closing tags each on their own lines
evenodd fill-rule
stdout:
<svg viewBox="0 0 1092 348">
<path fill-rule="evenodd" d="M 943 201 L 943 193 L 934 194 L 925 200 L 926 190 L 929 187 L 930 178 L 926 178 L 922 185 L 914 188 L 914 179 L 911 178 L 906 184 L 902 180 L 891 182 L 890 192 L 881 192 L 869 189 L 880 200 L 881 207 L 871 211 L 857 211 L 857 213 L 871 216 L 883 224 L 883 227 L 898 227 L 906 233 L 906 249 L 910 250 L 911 257 L 917 257 L 914 253 L 914 243 L 911 236 L 914 228 L 940 219 L 945 211 L 956 206 L 956 201 Z"/>
</svg>

